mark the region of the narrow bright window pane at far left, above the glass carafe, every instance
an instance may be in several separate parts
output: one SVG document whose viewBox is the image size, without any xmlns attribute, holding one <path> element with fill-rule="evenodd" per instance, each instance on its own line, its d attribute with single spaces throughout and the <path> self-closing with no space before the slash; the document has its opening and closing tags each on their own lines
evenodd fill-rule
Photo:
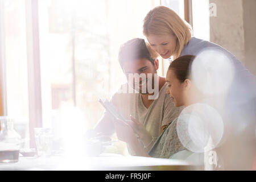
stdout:
<svg viewBox="0 0 256 182">
<path fill-rule="evenodd" d="M 7 114 L 15 129 L 29 138 L 25 1 L 5 1 Z M 27 147 L 29 140 L 23 143 Z"/>
</svg>

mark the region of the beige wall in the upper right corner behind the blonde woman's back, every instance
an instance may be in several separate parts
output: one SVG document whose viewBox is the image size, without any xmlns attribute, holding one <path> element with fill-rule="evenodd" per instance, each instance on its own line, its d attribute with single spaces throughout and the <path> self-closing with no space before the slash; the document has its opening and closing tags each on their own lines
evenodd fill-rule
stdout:
<svg viewBox="0 0 256 182">
<path fill-rule="evenodd" d="M 210 0 L 217 16 L 210 17 L 210 41 L 233 53 L 256 75 L 256 1 Z"/>
</svg>

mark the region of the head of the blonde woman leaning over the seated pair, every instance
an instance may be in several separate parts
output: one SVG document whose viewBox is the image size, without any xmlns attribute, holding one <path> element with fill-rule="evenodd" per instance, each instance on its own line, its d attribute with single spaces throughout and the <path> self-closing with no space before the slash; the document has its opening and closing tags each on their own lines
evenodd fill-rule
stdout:
<svg viewBox="0 0 256 182">
<path fill-rule="evenodd" d="M 174 10 L 165 6 L 155 7 L 146 15 L 143 34 L 151 48 L 164 59 L 171 59 L 171 57 L 176 59 L 179 56 L 187 55 L 188 53 L 185 52 L 187 52 L 188 44 L 188 48 L 191 49 L 189 42 L 199 42 L 199 39 L 191 39 L 191 26 L 181 19 Z M 193 50 L 191 55 L 194 54 Z"/>
</svg>

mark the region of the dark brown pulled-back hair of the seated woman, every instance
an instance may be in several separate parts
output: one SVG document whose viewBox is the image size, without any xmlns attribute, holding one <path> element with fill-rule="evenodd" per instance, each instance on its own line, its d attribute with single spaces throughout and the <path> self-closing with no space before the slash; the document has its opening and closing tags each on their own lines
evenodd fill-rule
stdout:
<svg viewBox="0 0 256 182">
<path fill-rule="evenodd" d="M 184 82 L 191 74 L 191 64 L 195 59 L 193 55 L 178 57 L 170 64 L 168 70 L 172 69 L 180 82 Z"/>
</svg>

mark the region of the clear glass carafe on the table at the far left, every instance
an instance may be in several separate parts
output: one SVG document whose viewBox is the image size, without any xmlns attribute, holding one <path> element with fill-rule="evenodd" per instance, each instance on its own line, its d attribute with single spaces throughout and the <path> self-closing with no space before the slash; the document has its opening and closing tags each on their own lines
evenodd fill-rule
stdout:
<svg viewBox="0 0 256 182">
<path fill-rule="evenodd" d="M 0 163 L 18 162 L 20 142 L 20 135 L 14 130 L 14 119 L 0 117 Z"/>
</svg>

